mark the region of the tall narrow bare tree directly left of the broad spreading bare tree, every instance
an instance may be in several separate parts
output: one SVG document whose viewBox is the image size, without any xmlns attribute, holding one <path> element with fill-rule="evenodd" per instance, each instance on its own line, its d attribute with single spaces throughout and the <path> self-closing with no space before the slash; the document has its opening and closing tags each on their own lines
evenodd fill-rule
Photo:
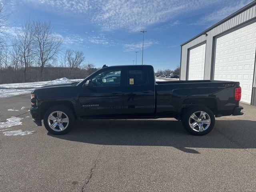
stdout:
<svg viewBox="0 0 256 192">
<path fill-rule="evenodd" d="M 26 81 L 26 71 L 31 66 L 31 54 L 32 54 L 32 42 L 33 42 L 33 31 L 32 23 L 30 20 L 25 22 L 22 26 L 21 31 L 17 31 L 17 46 L 20 50 L 21 64 L 24 67 L 24 79 Z"/>
</svg>

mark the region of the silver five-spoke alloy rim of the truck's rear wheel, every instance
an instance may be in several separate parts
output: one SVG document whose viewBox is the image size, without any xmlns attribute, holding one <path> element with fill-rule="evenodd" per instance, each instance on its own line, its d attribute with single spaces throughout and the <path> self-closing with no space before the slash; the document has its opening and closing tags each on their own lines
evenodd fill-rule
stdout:
<svg viewBox="0 0 256 192">
<path fill-rule="evenodd" d="M 189 125 L 196 132 L 205 131 L 211 124 L 210 116 L 204 111 L 194 112 L 189 118 Z"/>
</svg>

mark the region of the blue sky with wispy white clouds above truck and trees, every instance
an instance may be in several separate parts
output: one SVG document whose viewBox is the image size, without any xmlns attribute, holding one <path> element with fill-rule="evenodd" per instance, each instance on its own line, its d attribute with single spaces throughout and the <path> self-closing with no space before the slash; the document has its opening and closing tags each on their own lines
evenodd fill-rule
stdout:
<svg viewBox="0 0 256 192">
<path fill-rule="evenodd" d="M 0 0 L 1 1 L 1 0 Z M 63 48 L 83 51 L 96 67 L 142 58 L 158 69 L 180 65 L 180 44 L 252 0 L 6 0 L 8 32 L 24 21 L 50 21 Z M 134 61 L 135 63 L 135 61 Z"/>
</svg>

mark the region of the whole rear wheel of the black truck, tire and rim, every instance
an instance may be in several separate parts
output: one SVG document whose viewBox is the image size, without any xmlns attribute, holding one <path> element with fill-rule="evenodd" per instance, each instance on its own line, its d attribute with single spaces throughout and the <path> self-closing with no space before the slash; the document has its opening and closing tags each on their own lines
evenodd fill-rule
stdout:
<svg viewBox="0 0 256 192">
<path fill-rule="evenodd" d="M 182 124 L 192 135 L 205 135 L 214 128 L 215 117 L 209 108 L 198 106 L 185 112 Z"/>
</svg>

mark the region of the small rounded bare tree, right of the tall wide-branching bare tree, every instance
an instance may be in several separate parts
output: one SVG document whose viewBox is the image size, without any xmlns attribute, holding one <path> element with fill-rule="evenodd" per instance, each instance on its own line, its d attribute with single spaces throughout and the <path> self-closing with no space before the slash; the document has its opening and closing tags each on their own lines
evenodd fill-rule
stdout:
<svg viewBox="0 0 256 192">
<path fill-rule="evenodd" d="M 74 68 L 79 68 L 84 62 L 84 53 L 81 51 L 66 50 L 65 58 L 68 66 L 70 67 L 70 74 Z"/>
</svg>

